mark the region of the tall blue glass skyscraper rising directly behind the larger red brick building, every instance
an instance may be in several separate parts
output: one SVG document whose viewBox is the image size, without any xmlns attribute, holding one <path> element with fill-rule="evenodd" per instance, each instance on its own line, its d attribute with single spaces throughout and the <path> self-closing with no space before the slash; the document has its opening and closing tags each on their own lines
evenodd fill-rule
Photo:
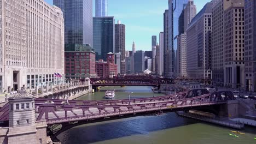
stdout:
<svg viewBox="0 0 256 144">
<path fill-rule="evenodd" d="M 65 19 L 65 44 L 89 44 L 93 47 L 92 0 L 53 0 Z"/>
</svg>

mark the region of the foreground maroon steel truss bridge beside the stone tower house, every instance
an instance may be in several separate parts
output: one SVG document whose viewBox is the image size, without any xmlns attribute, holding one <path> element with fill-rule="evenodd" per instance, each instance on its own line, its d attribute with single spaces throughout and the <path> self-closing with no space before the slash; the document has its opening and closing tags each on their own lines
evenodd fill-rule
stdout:
<svg viewBox="0 0 256 144">
<path fill-rule="evenodd" d="M 210 93 L 207 89 L 193 89 L 176 95 L 124 100 L 35 100 L 36 121 L 46 121 L 48 135 L 56 136 L 81 124 L 112 119 L 155 115 L 162 112 L 201 109 L 226 104 L 236 98 L 230 91 Z M 9 104 L 0 109 L 0 121 L 8 121 Z"/>
</svg>

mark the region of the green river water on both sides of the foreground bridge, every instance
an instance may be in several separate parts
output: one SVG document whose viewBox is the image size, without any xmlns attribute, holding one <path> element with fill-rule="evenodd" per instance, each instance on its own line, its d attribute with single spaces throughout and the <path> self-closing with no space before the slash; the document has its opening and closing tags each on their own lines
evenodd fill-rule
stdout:
<svg viewBox="0 0 256 144">
<path fill-rule="evenodd" d="M 78 100 L 104 100 L 107 89 L 116 89 L 114 99 L 153 97 L 151 87 L 103 87 L 101 92 L 86 94 Z M 155 94 L 163 95 L 163 94 Z M 230 136 L 230 128 L 203 123 L 176 113 L 161 116 L 140 116 L 114 121 L 80 125 L 62 133 L 62 144 L 82 143 L 177 143 L 177 144 L 251 144 L 256 143 L 256 128 L 246 127 L 245 135 Z"/>
</svg>

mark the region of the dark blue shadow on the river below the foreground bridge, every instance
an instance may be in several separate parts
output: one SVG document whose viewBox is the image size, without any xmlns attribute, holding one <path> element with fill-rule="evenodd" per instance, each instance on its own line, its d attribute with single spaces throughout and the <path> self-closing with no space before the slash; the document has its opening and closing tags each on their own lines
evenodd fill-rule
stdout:
<svg viewBox="0 0 256 144">
<path fill-rule="evenodd" d="M 94 143 L 132 135 L 148 135 L 150 132 L 195 124 L 194 119 L 182 118 L 176 113 L 161 116 L 119 119 L 97 124 L 80 125 L 59 136 L 62 144 Z"/>
</svg>

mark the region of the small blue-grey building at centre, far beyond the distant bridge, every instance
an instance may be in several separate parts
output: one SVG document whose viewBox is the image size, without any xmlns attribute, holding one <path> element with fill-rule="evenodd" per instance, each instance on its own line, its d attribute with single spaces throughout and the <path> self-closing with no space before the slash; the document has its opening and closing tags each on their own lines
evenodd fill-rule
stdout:
<svg viewBox="0 0 256 144">
<path fill-rule="evenodd" d="M 134 55 L 134 73 L 141 74 L 145 70 L 145 52 L 144 51 L 136 51 Z"/>
</svg>

